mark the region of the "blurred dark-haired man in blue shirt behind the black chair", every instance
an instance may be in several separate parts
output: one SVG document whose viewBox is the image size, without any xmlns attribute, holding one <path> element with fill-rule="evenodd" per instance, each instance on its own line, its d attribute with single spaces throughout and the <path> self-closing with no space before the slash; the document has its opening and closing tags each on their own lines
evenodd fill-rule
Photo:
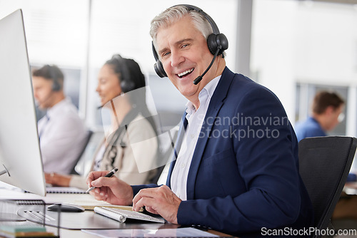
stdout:
<svg viewBox="0 0 357 238">
<path fill-rule="evenodd" d="M 298 141 L 303 138 L 326 136 L 343 119 L 344 100 L 336 93 L 321 91 L 313 98 L 312 116 L 295 127 Z"/>
</svg>

